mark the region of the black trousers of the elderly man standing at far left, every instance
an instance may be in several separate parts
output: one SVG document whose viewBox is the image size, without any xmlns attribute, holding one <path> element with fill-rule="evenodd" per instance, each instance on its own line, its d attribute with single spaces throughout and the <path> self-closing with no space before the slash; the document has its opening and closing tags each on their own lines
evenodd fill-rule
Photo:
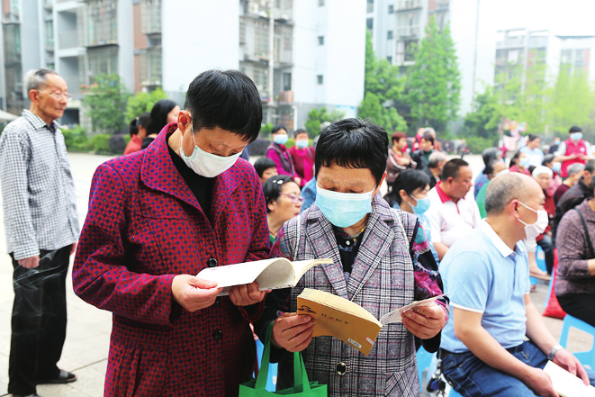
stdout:
<svg viewBox="0 0 595 397">
<path fill-rule="evenodd" d="M 11 257 L 13 255 L 11 254 Z M 27 269 L 13 257 L 14 305 L 8 392 L 32 394 L 38 380 L 56 378 L 66 338 L 66 275 L 70 246 L 40 252 Z"/>
</svg>

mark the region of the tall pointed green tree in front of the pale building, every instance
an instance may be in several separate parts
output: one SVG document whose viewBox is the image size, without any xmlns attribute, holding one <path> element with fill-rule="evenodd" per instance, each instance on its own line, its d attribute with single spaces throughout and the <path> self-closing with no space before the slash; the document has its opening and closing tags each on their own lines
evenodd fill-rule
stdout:
<svg viewBox="0 0 595 397">
<path fill-rule="evenodd" d="M 407 101 L 411 117 L 419 126 L 444 131 L 446 122 L 457 118 L 461 92 L 455 43 L 448 25 L 440 32 L 436 18 L 429 19 L 426 37 L 409 71 Z"/>
</svg>

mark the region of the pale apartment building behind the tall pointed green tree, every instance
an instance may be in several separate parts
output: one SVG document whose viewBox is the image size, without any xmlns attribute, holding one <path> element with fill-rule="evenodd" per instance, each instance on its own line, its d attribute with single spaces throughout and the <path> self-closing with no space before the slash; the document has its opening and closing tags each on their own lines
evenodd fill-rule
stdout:
<svg viewBox="0 0 595 397">
<path fill-rule="evenodd" d="M 366 0 L 366 26 L 374 51 L 399 67 L 401 74 L 415 63 L 415 51 L 430 18 L 439 29 L 450 26 L 461 72 L 460 116 L 472 110 L 473 97 L 493 81 L 496 2 L 480 0 Z"/>
</svg>

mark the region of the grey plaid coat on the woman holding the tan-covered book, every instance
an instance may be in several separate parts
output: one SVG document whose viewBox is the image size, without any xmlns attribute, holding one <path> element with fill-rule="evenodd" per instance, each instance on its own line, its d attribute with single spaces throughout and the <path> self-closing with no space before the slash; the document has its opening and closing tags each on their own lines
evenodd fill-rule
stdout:
<svg viewBox="0 0 595 397">
<path fill-rule="evenodd" d="M 330 257 L 333 264 L 315 266 L 302 277 L 291 293 L 291 311 L 304 288 L 335 293 L 356 302 L 377 319 L 413 302 L 414 274 L 410 239 L 417 218 L 392 210 L 379 195 L 374 196 L 372 213 L 364 232 L 353 273 L 346 283 L 332 225 L 314 204 L 299 218 L 284 224 L 280 241 L 282 256 L 297 260 Z M 404 233 L 403 233 L 404 231 Z M 338 338 L 313 338 L 302 351 L 310 380 L 329 385 L 331 396 L 419 396 L 414 337 L 402 323 L 381 329 L 369 356 L 362 355 Z M 347 373 L 336 372 L 338 363 Z M 293 383 L 293 355 L 279 363 L 279 387 Z"/>
</svg>

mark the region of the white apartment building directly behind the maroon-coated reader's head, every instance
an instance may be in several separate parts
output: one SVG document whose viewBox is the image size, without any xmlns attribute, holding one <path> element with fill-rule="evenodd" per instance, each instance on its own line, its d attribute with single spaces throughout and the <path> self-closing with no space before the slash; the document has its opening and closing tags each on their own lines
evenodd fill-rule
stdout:
<svg viewBox="0 0 595 397">
<path fill-rule="evenodd" d="M 302 128 L 313 108 L 356 116 L 364 98 L 365 0 L 179 1 L 163 10 L 163 89 L 182 100 L 209 68 L 253 79 L 265 122 Z M 194 34 L 181 26 L 193 27 Z M 224 28 L 222 28 L 224 27 Z M 176 54 L 187 54 L 181 64 Z"/>
</svg>

